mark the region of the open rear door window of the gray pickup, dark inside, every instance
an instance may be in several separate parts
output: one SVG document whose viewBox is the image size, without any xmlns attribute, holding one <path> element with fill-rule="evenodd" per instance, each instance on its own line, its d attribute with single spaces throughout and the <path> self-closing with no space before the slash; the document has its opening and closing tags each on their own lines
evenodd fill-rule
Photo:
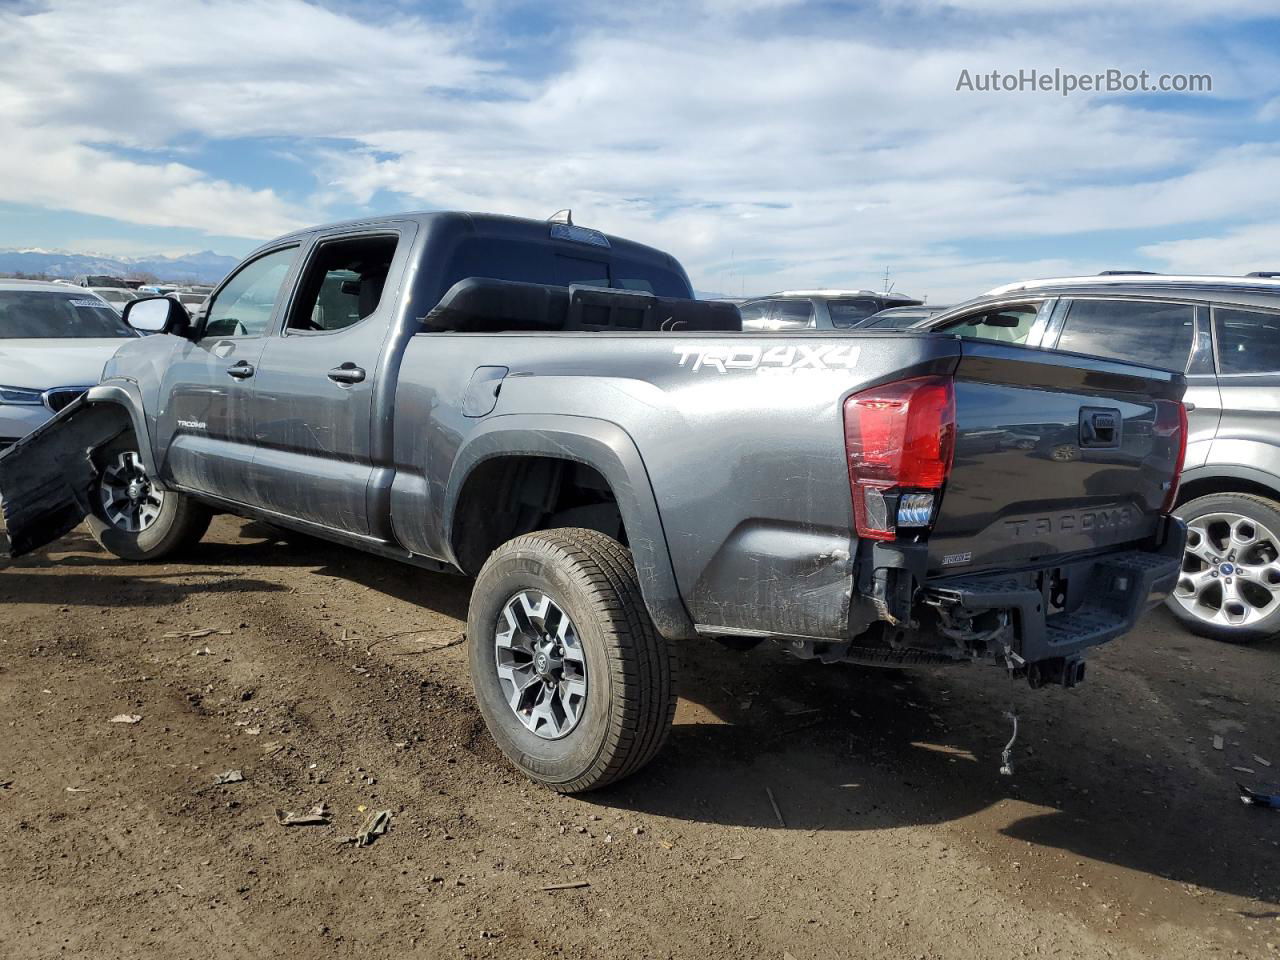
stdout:
<svg viewBox="0 0 1280 960">
<path fill-rule="evenodd" d="M 302 276 L 288 329 L 342 330 L 378 310 L 397 243 L 396 237 L 321 243 Z"/>
</svg>

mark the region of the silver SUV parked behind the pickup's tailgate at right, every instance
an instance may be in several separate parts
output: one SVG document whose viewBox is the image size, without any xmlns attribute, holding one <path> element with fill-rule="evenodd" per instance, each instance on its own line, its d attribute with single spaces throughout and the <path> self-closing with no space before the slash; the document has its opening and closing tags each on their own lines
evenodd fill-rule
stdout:
<svg viewBox="0 0 1280 960">
<path fill-rule="evenodd" d="M 919 326 L 1185 372 L 1190 431 L 1176 513 L 1189 530 L 1169 608 L 1219 640 L 1280 632 L 1280 280 L 1030 280 Z"/>
</svg>

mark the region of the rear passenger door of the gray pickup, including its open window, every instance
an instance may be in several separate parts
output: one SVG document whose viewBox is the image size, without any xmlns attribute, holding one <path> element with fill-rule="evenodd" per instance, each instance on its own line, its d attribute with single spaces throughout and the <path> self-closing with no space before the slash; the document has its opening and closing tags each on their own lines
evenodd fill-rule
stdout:
<svg viewBox="0 0 1280 960">
<path fill-rule="evenodd" d="M 259 364 L 255 503 L 372 535 L 366 498 L 390 438 L 389 399 L 387 413 L 376 401 L 379 361 L 411 230 L 334 234 L 307 255 L 283 328 L 266 340 Z"/>
</svg>

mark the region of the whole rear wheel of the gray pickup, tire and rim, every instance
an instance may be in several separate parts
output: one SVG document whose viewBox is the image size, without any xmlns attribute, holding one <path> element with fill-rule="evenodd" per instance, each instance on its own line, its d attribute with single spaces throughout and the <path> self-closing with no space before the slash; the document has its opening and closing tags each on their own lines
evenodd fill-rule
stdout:
<svg viewBox="0 0 1280 960">
<path fill-rule="evenodd" d="M 667 640 L 631 552 L 594 530 L 508 540 L 476 579 L 471 682 L 499 749 L 527 777 L 576 794 L 657 755 L 676 712 Z"/>
</svg>

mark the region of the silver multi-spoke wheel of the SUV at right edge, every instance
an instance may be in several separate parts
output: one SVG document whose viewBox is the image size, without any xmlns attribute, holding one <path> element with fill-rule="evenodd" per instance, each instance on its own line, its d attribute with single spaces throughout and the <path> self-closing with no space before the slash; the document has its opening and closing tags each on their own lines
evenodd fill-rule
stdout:
<svg viewBox="0 0 1280 960">
<path fill-rule="evenodd" d="M 1257 623 L 1280 605 L 1280 539 L 1239 513 L 1196 517 L 1174 599 L 1206 623 Z"/>
</svg>

